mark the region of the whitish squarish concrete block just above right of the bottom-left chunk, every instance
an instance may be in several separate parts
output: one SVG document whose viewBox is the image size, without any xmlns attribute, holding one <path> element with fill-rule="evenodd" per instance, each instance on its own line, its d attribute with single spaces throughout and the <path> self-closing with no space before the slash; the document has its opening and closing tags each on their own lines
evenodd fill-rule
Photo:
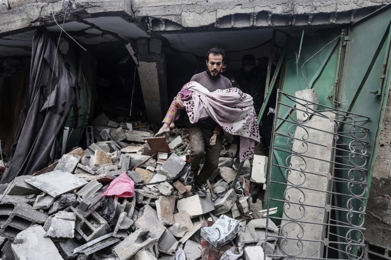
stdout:
<svg viewBox="0 0 391 260">
<path fill-rule="evenodd" d="M 45 236 L 52 238 L 73 238 L 75 236 L 76 213 L 59 211 L 56 215 L 48 218 L 44 229 Z"/>
</svg>

